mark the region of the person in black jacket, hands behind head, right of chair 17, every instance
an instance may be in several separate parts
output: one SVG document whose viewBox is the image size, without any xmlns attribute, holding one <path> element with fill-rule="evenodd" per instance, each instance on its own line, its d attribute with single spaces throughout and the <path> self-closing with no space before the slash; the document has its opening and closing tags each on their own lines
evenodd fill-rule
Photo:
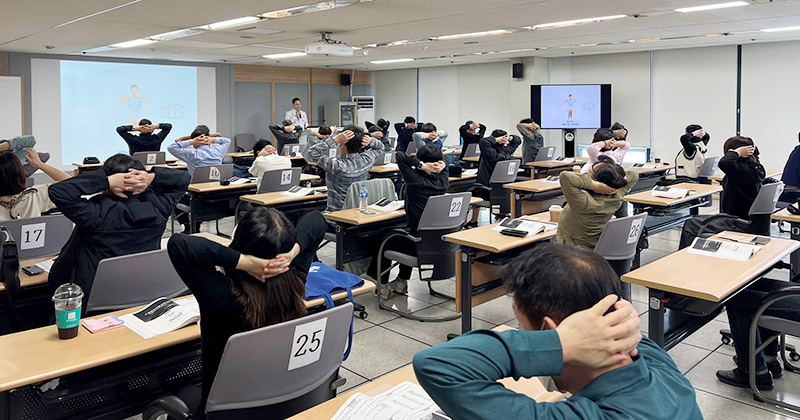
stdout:
<svg viewBox="0 0 800 420">
<path fill-rule="evenodd" d="M 145 172 L 141 162 L 117 154 L 100 171 L 52 184 L 50 200 L 75 223 L 75 230 L 50 270 L 51 290 L 73 281 L 83 289 L 85 308 L 100 260 L 159 249 L 167 220 L 190 179 L 178 169 Z M 88 200 L 83 197 L 92 194 Z"/>
</svg>

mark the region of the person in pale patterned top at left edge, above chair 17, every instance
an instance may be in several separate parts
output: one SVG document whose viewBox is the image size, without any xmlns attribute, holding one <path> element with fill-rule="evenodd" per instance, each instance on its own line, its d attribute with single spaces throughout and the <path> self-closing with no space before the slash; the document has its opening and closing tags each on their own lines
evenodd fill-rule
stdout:
<svg viewBox="0 0 800 420">
<path fill-rule="evenodd" d="M 26 166 L 41 170 L 54 182 L 63 181 L 70 176 L 56 169 L 39 158 L 39 154 L 31 147 L 24 152 Z M 55 205 L 50 200 L 48 189 L 50 184 L 26 187 L 25 169 L 19 158 L 11 152 L 0 152 L 0 221 L 39 217 L 42 212 Z"/>
</svg>

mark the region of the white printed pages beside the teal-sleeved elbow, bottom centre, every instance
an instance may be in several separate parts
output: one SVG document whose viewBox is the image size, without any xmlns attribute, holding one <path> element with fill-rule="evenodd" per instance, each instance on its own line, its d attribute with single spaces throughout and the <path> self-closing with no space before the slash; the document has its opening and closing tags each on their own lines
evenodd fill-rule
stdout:
<svg viewBox="0 0 800 420">
<path fill-rule="evenodd" d="M 421 386 L 403 382 L 374 397 L 355 393 L 331 420 L 423 420 L 437 410 L 439 407 Z"/>
</svg>

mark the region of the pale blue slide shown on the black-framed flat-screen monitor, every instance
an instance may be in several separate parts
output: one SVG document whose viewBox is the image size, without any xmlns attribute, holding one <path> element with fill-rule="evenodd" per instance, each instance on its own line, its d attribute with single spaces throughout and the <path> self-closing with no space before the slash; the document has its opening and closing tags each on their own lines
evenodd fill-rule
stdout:
<svg viewBox="0 0 800 420">
<path fill-rule="evenodd" d="M 599 128 L 600 86 L 542 86 L 542 127 Z"/>
</svg>

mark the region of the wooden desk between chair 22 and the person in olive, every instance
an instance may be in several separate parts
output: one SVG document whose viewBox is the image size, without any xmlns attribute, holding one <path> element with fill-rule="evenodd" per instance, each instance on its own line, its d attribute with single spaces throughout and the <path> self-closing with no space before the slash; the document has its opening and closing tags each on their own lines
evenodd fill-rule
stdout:
<svg viewBox="0 0 800 420">
<path fill-rule="evenodd" d="M 526 219 L 550 223 L 550 213 L 542 212 Z M 538 242 L 548 241 L 556 229 L 518 238 L 492 230 L 497 223 L 445 235 L 446 242 L 461 246 L 456 253 L 456 312 L 461 312 L 461 332 L 472 330 L 472 307 L 505 294 L 502 266 L 492 264 L 509 254 L 521 252 Z M 469 302 L 469 303 L 468 303 Z M 468 304 L 466 304 L 468 303 Z"/>
</svg>

